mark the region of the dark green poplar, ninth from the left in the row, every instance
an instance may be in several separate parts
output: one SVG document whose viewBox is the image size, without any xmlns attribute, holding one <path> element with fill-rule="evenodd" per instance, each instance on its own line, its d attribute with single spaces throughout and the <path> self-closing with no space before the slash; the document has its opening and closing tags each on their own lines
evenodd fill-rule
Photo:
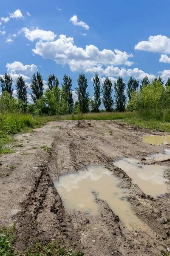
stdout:
<svg viewBox="0 0 170 256">
<path fill-rule="evenodd" d="M 116 108 L 120 112 L 125 111 L 125 105 L 126 105 L 125 88 L 126 88 L 126 84 L 123 81 L 122 77 L 119 76 L 117 81 L 114 82 L 114 89 L 116 93 L 115 95 Z"/>
</svg>

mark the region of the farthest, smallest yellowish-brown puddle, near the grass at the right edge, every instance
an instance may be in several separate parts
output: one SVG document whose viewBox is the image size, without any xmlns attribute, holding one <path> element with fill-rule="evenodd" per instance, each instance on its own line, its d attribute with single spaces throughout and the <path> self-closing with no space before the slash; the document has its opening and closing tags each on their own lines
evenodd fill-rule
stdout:
<svg viewBox="0 0 170 256">
<path fill-rule="evenodd" d="M 142 137 L 145 143 L 153 145 L 166 145 L 170 144 L 170 135 L 159 136 L 159 135 L 146 135 Z"/>
</svg>

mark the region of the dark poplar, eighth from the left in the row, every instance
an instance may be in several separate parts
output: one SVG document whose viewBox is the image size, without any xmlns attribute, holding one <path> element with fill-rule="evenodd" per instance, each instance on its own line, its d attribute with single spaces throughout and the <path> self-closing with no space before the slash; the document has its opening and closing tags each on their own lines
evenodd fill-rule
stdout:
<svg viewBox="0 0 170 256">
<path fill-rule="evenodd" d="M 106 77 L 106 79 L 102 85 L 102 94 L 103 94 L 102 102 L 103 102 L 107 112 L 113 111 L 114 102 L 113 102 L 113 98 L 111 96 L 112 92 L 113 92 L 113 89 L 112 89 L 111 79 Z"/>
</svg>

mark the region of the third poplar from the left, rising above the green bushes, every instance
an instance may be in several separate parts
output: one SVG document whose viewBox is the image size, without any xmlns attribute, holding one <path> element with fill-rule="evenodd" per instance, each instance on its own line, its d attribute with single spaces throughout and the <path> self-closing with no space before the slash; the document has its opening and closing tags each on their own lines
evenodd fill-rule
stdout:
<svg viewBox="0 0 170 256">
<path fill-rule="evenodd" d="M 37 76 L 35 73 L 33 74 L 30 87 L 32 89 L 31 98 L 35 103 L 36 100 L 41 99 L 41 96 L 43 95 L 43 81 L 40 72 L 37 72 Z"/>
</svg>

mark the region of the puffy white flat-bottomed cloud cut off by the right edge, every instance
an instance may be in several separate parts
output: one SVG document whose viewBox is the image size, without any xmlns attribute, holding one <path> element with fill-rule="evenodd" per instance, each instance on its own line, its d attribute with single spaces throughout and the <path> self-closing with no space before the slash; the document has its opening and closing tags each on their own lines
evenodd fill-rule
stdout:
<svg viewBox="0 0 170 256">
<path fill-rule="evenodd" d="M 165 35 L 150 36 L 148 41 L 141 41 L 136 44 L 135 49 L 169 54 L 170 38 L 167 38 Z"/>
</svg>

